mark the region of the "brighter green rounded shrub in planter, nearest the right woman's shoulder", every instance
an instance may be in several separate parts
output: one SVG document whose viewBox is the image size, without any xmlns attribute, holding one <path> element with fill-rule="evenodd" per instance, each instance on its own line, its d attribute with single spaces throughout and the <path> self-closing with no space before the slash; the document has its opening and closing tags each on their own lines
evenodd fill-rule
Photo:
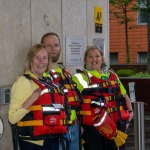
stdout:
<svg viewBox="0 0 150 150">
<path fill-rule="evenodd" d="M 135 74 L 135 71 L 131 69 L 120 69 L 116 71 L 116 74 L 118 77 L 130 77 Z"/>
</svg>

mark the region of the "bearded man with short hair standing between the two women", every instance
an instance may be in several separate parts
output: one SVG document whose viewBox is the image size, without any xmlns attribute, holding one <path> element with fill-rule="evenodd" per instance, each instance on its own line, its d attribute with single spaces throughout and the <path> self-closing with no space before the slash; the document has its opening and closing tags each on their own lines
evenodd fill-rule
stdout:
<svg viewBox="0 0 150 150">
<path fill-rule="evenodd" d="M 66 68 L 58 64 L 58 59 L 61 52 L 60 38 L 56 33 L 50 32 L 43 35 L 41 43 L 46 47 L 50 52 L 52 57 L 52 68 L 49 71 L 49 74 L 53 77 L 53 81 L 59 83 L 62 88 L 67 88 L 66 92 L 66 105 L 68 105 L 68 134 L 66 138 L 66 147 L 70 150 L 80 150 L 81 149 L 81 140 L 79 133 L 79 126 L 76 119 L 76 111 L 82 98 L 79 91 L 76 88 L 76 84 L 72 80 L 71 74 L 66 70 Z M 47 75 L 44 75 L 47 76 Z M 61 147 L 60 147 L 61 150 Z"/>
</svg>

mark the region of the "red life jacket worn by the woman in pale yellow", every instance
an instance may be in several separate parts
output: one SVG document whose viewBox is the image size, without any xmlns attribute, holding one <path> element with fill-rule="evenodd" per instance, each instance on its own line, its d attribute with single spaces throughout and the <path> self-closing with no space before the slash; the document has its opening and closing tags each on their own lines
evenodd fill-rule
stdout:
<svg viewBox="0 0 150 150">
<path fill-rule="evenodd" d="M 30 136 L 32 139 L 44 139 L 60 136 L 67 132 L 65 99 L 63 91 L 55 84 L 46 84 L 29 75 L 41 88 L 41 96 L 30 107 L 30 112 L 17 123 L 19 135 Z"/>
</svg>

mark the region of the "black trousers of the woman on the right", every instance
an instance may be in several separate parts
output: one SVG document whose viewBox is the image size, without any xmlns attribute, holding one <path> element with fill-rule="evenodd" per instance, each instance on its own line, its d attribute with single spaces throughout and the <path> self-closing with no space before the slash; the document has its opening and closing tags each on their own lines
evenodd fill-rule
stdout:
<svg viewBox="0 0 150 150">
<path fill-rule="evenodd" d="M 84 126 L 83 128 L 84 150 L 118 150 L 114 140 L 104 138 L 94 126 Z M 125 146 L 121 146 L 119 150 L 125 150 Z"/>
</svg>

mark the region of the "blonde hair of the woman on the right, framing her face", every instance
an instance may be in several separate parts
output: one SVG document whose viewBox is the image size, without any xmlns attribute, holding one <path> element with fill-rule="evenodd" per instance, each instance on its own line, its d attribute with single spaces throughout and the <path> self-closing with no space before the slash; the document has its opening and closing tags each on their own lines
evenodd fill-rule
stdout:
<svg viewBox="0 0 150 150">
<path fill-rule="evenodd" d="M 86 63 L 85 63 L 85 62 L 86 62 L 86 58 L 87 58 L 88 53 L 89 53 L 90 51 L 94 50 L 94 49 L 97 49 L 97 50 L 99 51 L 99 53 L 101 54 L 101 56 L 102 56 L 102 61 L 103 61 L 103 63 L 102 63 L 101 68 L 103 68 L 104 63 L 105 63 L 104 54 L 103 54 L 103 51 L 102 51 L 99 47 L 97 47 L 97 46 L 88 46 L 88 47 L 87 47 L 87 49 L 86 49 L 86 51 L 85 51 L 85 53 L 84 53 L 84 68 L 86 68 Z"/>
</svg>

